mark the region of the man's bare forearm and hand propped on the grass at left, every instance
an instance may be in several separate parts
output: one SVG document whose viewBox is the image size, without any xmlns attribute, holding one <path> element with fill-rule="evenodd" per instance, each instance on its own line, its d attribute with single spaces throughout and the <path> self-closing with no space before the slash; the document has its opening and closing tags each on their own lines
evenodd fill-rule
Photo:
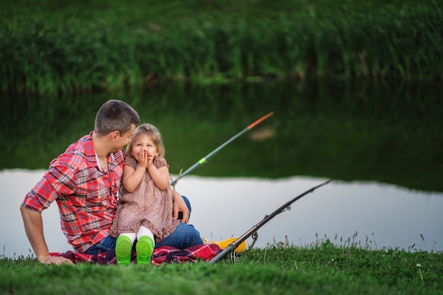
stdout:
<svg viewBox="0 0 443 295">
<path fill-rule="evenodd" d="M 30 245 L 33 247 L 35 256 L 37 256 L 38 261 L 47 265 L 61 265 L 63 263 L 74 265 L 74 262 L 67 258 L 54 257 L 50 255 L 50 252 L 47 249 L 45 236 L 43 235 L 42 214 L 30 210 L 23 205 L 20 207 L 20 211 L 23 218 L 23 224 L 25 225 L 26 236 L 28 236 L 28 240 L 30 242 Z"/>
</svg>

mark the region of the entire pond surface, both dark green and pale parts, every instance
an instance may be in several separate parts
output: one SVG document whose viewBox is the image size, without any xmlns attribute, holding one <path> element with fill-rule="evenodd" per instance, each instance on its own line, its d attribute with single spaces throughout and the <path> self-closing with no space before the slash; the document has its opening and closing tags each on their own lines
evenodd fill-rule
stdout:
<svg viewBox="0 0 443 295">
<path fill-rule="evenodd" d="M 179 181 L 176 189 L 192 200 L 192 223 L 207 238 L 239 236 L 309 186 L 334 178 L 264 226 L 255 246 L 337 235 L 337 243 L 354 237 L 378 248 L 442 250 L 441 93 L 439 83 L 323 81 L 2 96 L 0 185 L 8 193 L 0 216 L 13 226 L 2 226 L 1 236 L 21 238 L 0 245 L 6 255 L 28 253 L 18 211 L 23 196 L 52 158 L 93 129 L 100 105 L 120 98 L 159 127 L 173 175 L 275 112 Z M 56 243 L 48 241 L 50 250 L 66 250 L 56 207 L 43 214 L 47 231 L 58 229 L 46 237 Z"/>
</svg>

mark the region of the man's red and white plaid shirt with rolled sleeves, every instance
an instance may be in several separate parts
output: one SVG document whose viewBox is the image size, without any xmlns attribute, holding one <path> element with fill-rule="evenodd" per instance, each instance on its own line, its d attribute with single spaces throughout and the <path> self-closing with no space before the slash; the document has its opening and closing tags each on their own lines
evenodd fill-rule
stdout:
<svg viewBox="0 0 443 295">
<path fill-rule="evenodd" d="M 62 231 L 81 253 L 109 235 L 125 161 L 125 151 L 120 149 L 108 155 L 108 171 L 99 170 L 91 134 L 54 158 L 23 201 L 23 206 L 36 212 L 57 201 Z"/>
</svg>

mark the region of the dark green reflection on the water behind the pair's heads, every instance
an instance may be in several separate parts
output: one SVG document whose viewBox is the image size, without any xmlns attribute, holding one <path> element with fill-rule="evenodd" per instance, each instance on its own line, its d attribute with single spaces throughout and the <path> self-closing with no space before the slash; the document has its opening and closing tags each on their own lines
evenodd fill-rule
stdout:
<svg viewBox="0 0 443 295">
<path fill-rule="evenodd" d="M 109 98 L 159 127 L 179 173 L 267 112 L 195 175 L 377 180 L 443 192 L 442 83 L 315 80 L 304 83 L 164 85 L 78 97 L 0 97 L 0 169 L 47 168 L 93 129 Z M 76 120 L 72 120 L 75 117 Z M 48 132 L 51 130 L 51 132 Z M 256 137 L 255 132 L 267 132 Z M 262 133 L 262 134 L 263 134 Z M 264 156 L 266 155 L 266 156 Z"/>
</svg>

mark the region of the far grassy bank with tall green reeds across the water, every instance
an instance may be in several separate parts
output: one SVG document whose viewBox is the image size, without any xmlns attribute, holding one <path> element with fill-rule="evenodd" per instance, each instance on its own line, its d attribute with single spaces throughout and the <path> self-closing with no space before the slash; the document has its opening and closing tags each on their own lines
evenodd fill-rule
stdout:
<svg viewBox="0 0 443 295">
<path fill-rule="evenodd" d="M 1 91 L 440 79 L 442 0 L 1 1 Z"/>
</svg>

